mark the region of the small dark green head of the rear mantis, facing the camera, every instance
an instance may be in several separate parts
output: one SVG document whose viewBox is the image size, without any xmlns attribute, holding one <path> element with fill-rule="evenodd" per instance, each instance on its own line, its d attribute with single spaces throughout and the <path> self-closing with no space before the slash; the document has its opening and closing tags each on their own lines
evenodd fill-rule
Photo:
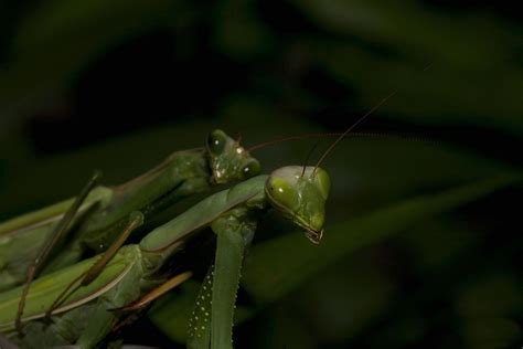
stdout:
<svg viewBox="0 0 523 349">
<path fill-rule="evenodd" d="M 258 160 L 221 129 L 209 135 L 206 150 L 215 183 L 246 180 L 260 172 Z"/>
</svg>

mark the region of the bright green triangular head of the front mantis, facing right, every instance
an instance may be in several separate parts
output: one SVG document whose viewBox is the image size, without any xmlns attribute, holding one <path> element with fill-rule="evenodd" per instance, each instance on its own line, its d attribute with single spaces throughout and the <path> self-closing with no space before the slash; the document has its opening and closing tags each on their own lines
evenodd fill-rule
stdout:
<svg viewBox="0 0 523 349">
<path fill-rule="evenodd" d="M 329 174 L 309 166 L 282 167 L 274 171 L 265 184 L 269 202 L 293 223 L 306 230 L 307 237 L 318 244 L 323 234 Z"/>
</svg>

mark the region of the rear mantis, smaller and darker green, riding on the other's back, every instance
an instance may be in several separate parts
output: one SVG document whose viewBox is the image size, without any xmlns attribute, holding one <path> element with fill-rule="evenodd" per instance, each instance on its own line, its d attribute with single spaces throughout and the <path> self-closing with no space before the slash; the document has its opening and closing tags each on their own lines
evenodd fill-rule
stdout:
<svg viewBox="0 0 523 349">
<path fill-rule="evenodd" d="M 70 265 L 82 257 L 86 247 L 106 250 L 132 211 L 140 211 L 149 220 L 175 201 L 207 191 L 212 184 L 244 180 L 258 173 L 259 162 L 237 141 L 215 130 L 204 149 L 177 151 L 157 168 L 125 184 L 100 186 L 89 191 L 96 180 L 93 179 L 77 198 L 77 202 L 83 203 L 70 210 L 73 213 L 70 218 L 64 215 L 74 208 L 73 199 L 0 224 L 0 290 L 25 279 L 25 271 L 38 257 L 44 241 L 51 240 L 53 231 L 74 231 L 76 237 L 63 248 L 64 253 L 52 263 L 40 263 L 39 268 L 47 264 L 47 271 L 54 271 Z M 65 224 L 56 226 L 60 221 Z"/>
</svg>

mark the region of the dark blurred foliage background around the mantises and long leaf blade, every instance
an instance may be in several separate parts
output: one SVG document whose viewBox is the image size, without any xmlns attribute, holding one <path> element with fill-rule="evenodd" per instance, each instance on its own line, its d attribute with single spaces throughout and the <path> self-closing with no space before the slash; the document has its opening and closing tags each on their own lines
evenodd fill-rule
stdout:
<svg viewBox="0 0 523 349">
<path fill-rule="evenodd" d="M 4 0 L 0 218 L 74 195 L 95 168 L 127 180 L 216 127 L 247 147 L 343 131 L 393 91 L 357 130 L 404 137 L 333 151 L 329 222 L 519 173 L 521 19 L 508 1 Z M 316 142 L 254 155 L 270 171 Z M 346 256 L 239 326 L 238 347 L 521 346 L 521 193 Z M 170 346 L 142 326 L 130 342 Z"/>
</svg>

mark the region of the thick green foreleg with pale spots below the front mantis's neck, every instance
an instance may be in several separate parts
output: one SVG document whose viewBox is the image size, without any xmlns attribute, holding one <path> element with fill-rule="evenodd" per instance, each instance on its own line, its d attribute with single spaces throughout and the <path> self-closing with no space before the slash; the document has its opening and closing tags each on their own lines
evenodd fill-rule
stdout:
<svg viewBox="0 0 523 349">
<path fill-rule="evenodd" d="M 235 209 L 213 222 L 212 229 L 217 235 L 215 264 L 204 279 L 190 322 L 188 347 L 194 349 L 233 348 L 236 292 L 256 221 L 246 209 Z"/>
</svg>

